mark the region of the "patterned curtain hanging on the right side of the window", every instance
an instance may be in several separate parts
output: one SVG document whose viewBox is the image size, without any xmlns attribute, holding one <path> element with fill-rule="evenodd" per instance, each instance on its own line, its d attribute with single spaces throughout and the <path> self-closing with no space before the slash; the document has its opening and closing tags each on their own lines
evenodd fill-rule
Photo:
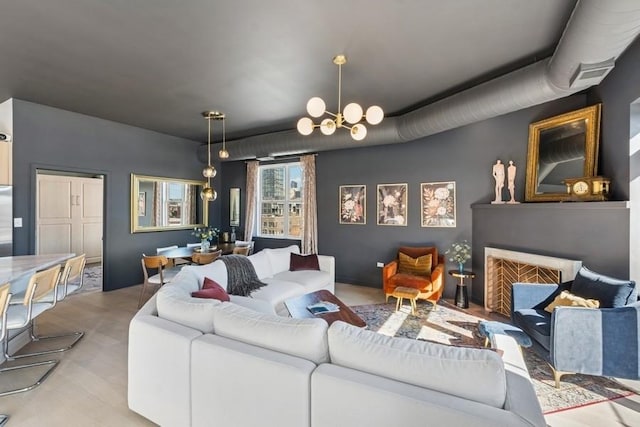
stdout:
<svg viewBox="0 0 640 427">
<path fill-rule="evenodd" d="M 316 203 L 316 156 L 300 158 L 302 164 L 302 253 L 318 253 L 318 205 Z"/>
</svg>

